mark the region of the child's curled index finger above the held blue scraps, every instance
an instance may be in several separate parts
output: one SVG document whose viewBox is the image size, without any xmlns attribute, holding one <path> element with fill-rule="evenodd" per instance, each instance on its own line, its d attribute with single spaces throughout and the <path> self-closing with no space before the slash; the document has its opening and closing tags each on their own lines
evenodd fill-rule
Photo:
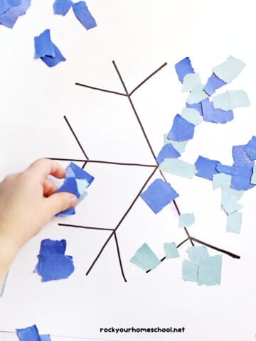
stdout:
<svg viewBox="0 0 256 341">
<path fill-rule="evenodd" d="M 41 183 L 44 183 L 47 175 L 53 175 L 55 178 L 64 178 L 66 171 L 59 163 L 48 158 L 40 158 L 28 167 L 27 171 L 38 176 Z"/>
</svg>

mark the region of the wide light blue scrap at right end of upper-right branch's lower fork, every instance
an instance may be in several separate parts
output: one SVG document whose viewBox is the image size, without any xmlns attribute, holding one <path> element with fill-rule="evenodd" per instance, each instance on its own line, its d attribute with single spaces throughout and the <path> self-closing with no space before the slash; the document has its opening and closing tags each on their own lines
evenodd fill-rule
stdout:
<svg viewBox="0 0 256 341">
<path fill-rule="evenodd" d="M 213 107 L 215 109 L 231 110 L 240 107 L 249 107 L 250 100 L 244 90 L 226 91 L 222 94 L 215 94 Z"/>
</svg>

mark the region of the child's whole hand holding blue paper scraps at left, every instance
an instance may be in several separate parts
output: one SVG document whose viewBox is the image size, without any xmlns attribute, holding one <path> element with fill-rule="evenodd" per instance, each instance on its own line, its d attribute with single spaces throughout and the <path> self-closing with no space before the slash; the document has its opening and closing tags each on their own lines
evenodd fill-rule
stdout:
<svg viewBox="0 0 256 341">
<path fill-rule="evenodd" d="M 51 217 L 77 204 L 75 195 L 55 193 L 57 188 L 47 177 L 64 178 L 65 173 L 58 163 L 40 159 L 0 183 L 0 272 L 1 264 L 10 265 L 18 249 Z"/>
</svg>

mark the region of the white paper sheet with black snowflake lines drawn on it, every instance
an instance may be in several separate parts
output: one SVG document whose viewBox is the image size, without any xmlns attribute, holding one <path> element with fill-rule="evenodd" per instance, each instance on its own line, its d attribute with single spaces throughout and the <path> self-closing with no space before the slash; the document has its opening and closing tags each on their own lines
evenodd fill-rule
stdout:
<svg viewBox="0 0 256 341">
<path fill-rule="evenodd" d="M 187 94 L 181 94 L 174 64 L 186 56 L 203 82 L 211 68 L 229 55 L 244 60 L 247 67 L 228 88 L 245 90 L 251 107 L 236 109 L 235 120 L 228 124 L 203 122 L 196 127 L 183 160 L 193 163 L 201 154 L 232 163 L 232 146 L 247 143 L 255 134 L 253 1 L 88 0 L 98 24 L 90 31 L 72 11 L 64 18 L 53 16 L 52 4 L 53 0 L 34 0 L 13 30 L 0 27 L 1 177 L 42 156 L 82 158 L 64 115 L 90 158 L 152 162 L 127 98 L 75 86 L 83 82 L 122 91 L 112 60 L 129 90 L 168 63 L 133 97 L 155 153 L 185 104 Z M 67 58 L 53 69 L 33 60 L 33 37 L 46 28 Z M 209 181 L 168 176 L 180 194 L 181 212 L 195 212 L 193 236 L 240 254 L 241 259 L 223 256 L 221 286 L 212 288 L 182 281 L 182 259 L 164 261 L 145 274 L 129 263 L 142 243 L 161 257 L 164 242 L 178 243 L 186 235 L 171 207 L 154 215 L 138 200 L 117 232 L 128 280 L 124 283 L 113 240 L 85 276 L 107 232 L 59 227 L 58 222 L 114 227 L 150 170 L 96 164 L 86 169 L 95 175 L 95 183 L 77 215 L 50 222 L 14 261 L 0 299 L 0 330 L 36 323 L 41 333 L 118 341 L 255 340 L 255 190 L 242 198 L 242 234 L 233 235 L 225 232 L 220 193 L 212 190 Z M 44 238 L 67 239 L 66 254 L 75 261 L 75 273 L 67 280 L 41 283 L 33 274 Z M 183 258 L 188 246 L 181 248 Z M 179 335 L 100 333 L 100 328 L 112 326 L 184 326 L 186 331 Z"/>
</svg>

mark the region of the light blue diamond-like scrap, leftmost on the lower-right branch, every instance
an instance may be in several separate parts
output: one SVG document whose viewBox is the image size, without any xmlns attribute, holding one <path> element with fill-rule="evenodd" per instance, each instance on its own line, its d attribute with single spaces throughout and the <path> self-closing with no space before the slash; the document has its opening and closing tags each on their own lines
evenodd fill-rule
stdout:
<svg viewBox="0 0 256 341">
<path fill-rule="evenodd" d="M 157 256 L 146 243 L 137 250 L 136 254 L 134 254 L 132 259 L 130 259 L 130 262 L 145 271 L 155 269 L 156 266 L 161 264 L 161 261 L 159 261 Z"/>
</svg>

